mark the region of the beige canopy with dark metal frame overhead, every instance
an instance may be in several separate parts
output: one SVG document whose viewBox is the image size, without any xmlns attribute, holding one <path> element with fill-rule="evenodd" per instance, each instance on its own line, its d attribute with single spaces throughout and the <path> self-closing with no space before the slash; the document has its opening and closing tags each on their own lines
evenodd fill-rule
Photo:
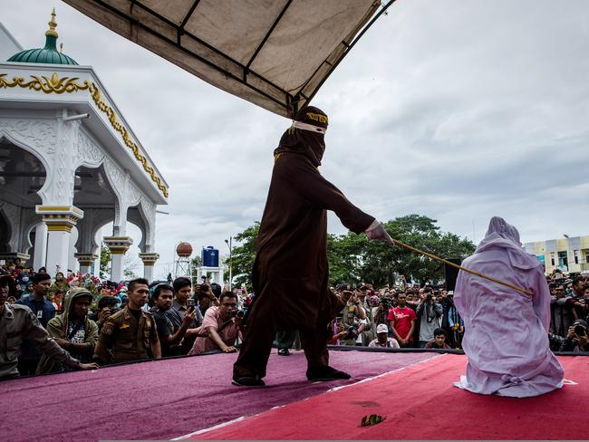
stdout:
<svg viewBox="0 0 589 442">
<path fill-rule="evenodd" d="M 205 82 L 292 116 L 394 0 L 378 14 L 381 0 L 64 1 Z"/>
</svg>

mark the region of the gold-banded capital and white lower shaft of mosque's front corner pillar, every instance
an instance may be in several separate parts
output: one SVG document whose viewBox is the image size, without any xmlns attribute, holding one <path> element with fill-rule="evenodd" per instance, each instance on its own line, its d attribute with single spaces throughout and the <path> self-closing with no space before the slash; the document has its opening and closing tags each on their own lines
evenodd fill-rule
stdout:
<svg viewBox="0 0 589 442">
<path fill-rule="evenodd" d="M 52 276 L 68 269 L 72 227 L 84 216 L 75 206 L 36 206 L 35 212 L 43 216 L 47 226 L 47 273 Z"/>
</svg>

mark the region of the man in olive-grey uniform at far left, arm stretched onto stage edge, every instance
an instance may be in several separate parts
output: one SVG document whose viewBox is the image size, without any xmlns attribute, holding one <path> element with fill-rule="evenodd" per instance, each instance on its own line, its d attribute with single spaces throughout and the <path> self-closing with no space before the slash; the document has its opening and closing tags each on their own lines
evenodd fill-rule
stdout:
<svg viewBox="0 0 589 442">
<path fill-rule="evenodd" d="M 23 340 L 58 363 L 77 370 L 98 369 L 95 363 L 82 364 L 49 337 L 37 315 L 26 305 L 6 303 L 12 280 L 0 278 L 0 379 L 19 376 L 18 357 Z"/>
</svg>

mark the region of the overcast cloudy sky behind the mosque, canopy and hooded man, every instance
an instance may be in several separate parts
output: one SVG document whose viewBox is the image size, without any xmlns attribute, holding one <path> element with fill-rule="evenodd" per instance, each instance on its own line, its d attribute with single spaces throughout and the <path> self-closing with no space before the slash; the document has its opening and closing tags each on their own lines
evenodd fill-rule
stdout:
<svg viewBox="0 0 589 442">
<path fill-rule="evenodd" d="M 0 20 L 24 48 L 90 64 L 170 187 L 156 275 L 259 220 L 289 120 L 218 91 L 55 0 Z M 417 213 L 478 242 L 491 216 L 524 242 L 589 235 L 589 2 L 398 0 L 316 95 L 323 176 L 381 220 Z M 329 231 L 345 232 L 335 216 Z M 138 229 L 131 229 L 136 244 Z"/>
</svg>

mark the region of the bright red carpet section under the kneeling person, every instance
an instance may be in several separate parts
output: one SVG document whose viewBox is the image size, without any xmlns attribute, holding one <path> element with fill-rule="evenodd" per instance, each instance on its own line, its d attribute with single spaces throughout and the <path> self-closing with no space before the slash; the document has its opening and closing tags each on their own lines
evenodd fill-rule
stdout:
<svg viewBox="0 0 589 442">
<path fill-rule="evenodd" d="M 584 439 L 589 359 L 559 360 L 565 379 L 578 385 L 536 398 L 481 396 L 453 387 L 466 357 L 446 354 L 188 438 Z M 372 413 L 385 419 L 362 428 L 362 417 Z"/>
</svg>

